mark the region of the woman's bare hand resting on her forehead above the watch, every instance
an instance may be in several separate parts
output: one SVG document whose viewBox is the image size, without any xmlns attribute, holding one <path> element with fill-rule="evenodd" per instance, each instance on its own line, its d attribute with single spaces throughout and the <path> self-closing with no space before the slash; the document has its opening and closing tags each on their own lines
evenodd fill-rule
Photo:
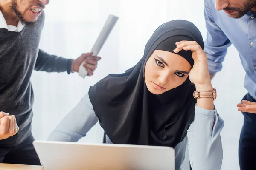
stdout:
<svg viewBox="0 0 256 170">
<path fill-rule="evenodd" d="M 189 73 L 189 79 L 195 84 L 199 91 L 212 90 L 212 83 L 208 68 L 207 56 L 203 49 L 196 41 L 180 41 L 176 42 L 177 48 L 174 50 L 178 53 L 181 50 L 191 50 L 194 66 Z"/>
</svg>

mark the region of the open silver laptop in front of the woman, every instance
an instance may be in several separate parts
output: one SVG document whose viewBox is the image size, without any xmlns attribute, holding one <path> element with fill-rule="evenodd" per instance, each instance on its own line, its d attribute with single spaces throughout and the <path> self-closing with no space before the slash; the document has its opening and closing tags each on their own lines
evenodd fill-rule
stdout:
<svg viewBox="0 0 256 170">
<path fill-rule="evenodd" d="M 172 147 L 34 141 L 45 170 L 175 170 Z"/>
</svg>

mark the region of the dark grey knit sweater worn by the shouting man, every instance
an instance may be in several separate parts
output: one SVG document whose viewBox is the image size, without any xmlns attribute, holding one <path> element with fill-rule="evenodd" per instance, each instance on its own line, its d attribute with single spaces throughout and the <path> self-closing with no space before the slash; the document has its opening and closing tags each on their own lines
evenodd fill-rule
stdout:
<svg viewBox="0 0 256 170">
<path fill-rule="evenodd" d="M 21 32 L 0 29 L 0 111 L 16 116 L 20 131 L 0 146 L 15 146 L 31 134 L 33 89 L 32 71 L 70 73 L 71 60 L 49 55 L 38 49 L 44 13 L 34 27 L 25 26 Z"/>
</svg>

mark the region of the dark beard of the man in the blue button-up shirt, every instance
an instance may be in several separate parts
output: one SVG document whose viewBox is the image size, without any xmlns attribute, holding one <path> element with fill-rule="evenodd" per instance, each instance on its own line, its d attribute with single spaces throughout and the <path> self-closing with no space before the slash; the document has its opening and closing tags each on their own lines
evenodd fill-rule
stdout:
<svg viewBox="0 0 256 170">
<path fill-rule="evenodd" d="M 247 14 L 248 11 L 250 11 L 251 8 L 253 8 L 254 6 L 256 6 L 256 0 L 247 0 L 247 2 L 244 3 L 244 6 L 242 8 L 237 8 L 237 7 L 227 7 L 224 8 L 223 10 L 225 11 L 238 11 L 238 15 L 233 17 L 233 18 L 241 18 L 243 17 L 245 14 Z"/>
</svg>

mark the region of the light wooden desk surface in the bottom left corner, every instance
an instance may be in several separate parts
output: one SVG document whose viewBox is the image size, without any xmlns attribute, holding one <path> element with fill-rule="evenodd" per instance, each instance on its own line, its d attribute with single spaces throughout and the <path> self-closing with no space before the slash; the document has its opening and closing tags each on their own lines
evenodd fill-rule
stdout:
<svg viewBox="0 0 256 170">
<path fill-rule="evenodd" d="M 20 164 L 1 164 L 0 170 L 44 170 L 42 166 L 20 165 Z"/>
</svg>

